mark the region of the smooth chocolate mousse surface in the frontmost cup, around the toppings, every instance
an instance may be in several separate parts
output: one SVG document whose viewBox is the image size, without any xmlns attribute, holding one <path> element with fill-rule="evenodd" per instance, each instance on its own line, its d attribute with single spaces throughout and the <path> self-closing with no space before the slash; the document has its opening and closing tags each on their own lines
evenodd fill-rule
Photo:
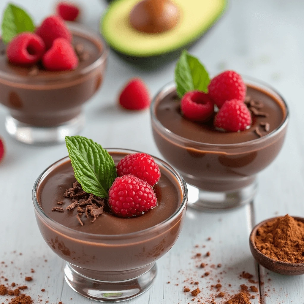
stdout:
<svg viewBox="0 0 304 304">
<path fill-rule="evenodd" d="M 123 153 L 110 153 L 115 164 L 126 155 Z M 155 226 L 168 219 L 180 206 L 182 201 L 181 187 L 178 181 L 167 170 L 161 168 L 161 179 L 154 186 L 154 192 L 157 197 L 157 206 L 145 214 L 133 218 L 119 218 L 109 212 L 107 202 L 102 215 L 98 216 L 94 223 L 92 218 L 81 217 L 84 225 L 81 226 L 76 215 L 77 208 L 67 210 L 73 201 L 63 196 L 64 192 L 72 187 L 76 181 L 71 162 L 67 161 L 54 169 L 47 175 L 45 180 L 37 189 L 37 199 L 43 211 L 51 219 L 55 220 L 66 227 L 87 233 L 95 234 L 124 234 L 132 233 Z M 63 202 L 57 205 L 57 202 Z M 64 209 L 64 212 L 51 211 L 54 207 Z"/>
</svg>

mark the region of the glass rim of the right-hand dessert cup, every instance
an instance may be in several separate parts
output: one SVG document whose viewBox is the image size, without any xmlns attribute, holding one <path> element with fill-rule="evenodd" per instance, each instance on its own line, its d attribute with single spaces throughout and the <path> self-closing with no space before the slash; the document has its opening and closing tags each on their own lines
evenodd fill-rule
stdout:
<svg viewBox="0 0 304 304">
<path fill-rule="evenodd" d="M 268 140 L 269 138 L 272 138 L 273 136 L 275 136 L 276 134 L 280 133 L 285 126 L 288 123 L 289 120 L 289 109 L 288 109 L 288 105 L 285 101 L 285 99 L 282 97 L 282 95 L 272 86 L 268 85 L 266 82 L 258 80 L 254 77 L 250 77 L 250 76 L 246 76 L 246 75 L 242 75 L 242 77 L 244 78 L 244 82 L 247 85 L 247 83 L 249 83 L 250 81 L 254 82 L 256 85 L 262 85 L 264 87 L 266 87 L 268 90 L 270 89 L 271 91 L 273 91 L 276 95 L 278 95 L 278 97 L 282 100 L 282 105 L 285 107 L 285 118 L 282 120 L 281 124 L 273 131 L 271 131 L 270 133 L 266 134 L 265 136 L 259 137 L 257 139 L 254 140 L 249 140 L 249 141 L 244 141 L 244 142 L 240 142 L 240 143 L 202 143 L 199 141 L 195 141 L 195 140 L 191 140 L 191 139 L 187 139 L 185 137 L 182 137 L 180 135 L 177 135 L 175 133 L 173 133 L 172 131 L 170 131 L 169 129 L 167 129 L 157 118 L 156 113 L 155 113 L 155 109 L 156 109 L 156 102 L 157 102 L 157 97 L 163 93 L 164 95 L 166 95 L 166 93 L 169 93 L 172 91 L 173 88 L 176 88 L 176 84 L 174 81 L 171 81 L 169 83 L 167 83 L 166 85 L 164 85 L 154 96 L 154 98 L 152 99 L 151 105 L 150 105 L 150 116 L 151 116 L 151 120 L 153 123 L 156 124 L 157 128 L 161 131 L 164 131 L 164 135 L 168 136 L 172 139 L 177 140 L 178 142 L 184 142 L 187 144 L 192 144 L 192 146 L 195 147 L 210 147 L 210 148 L 239 148 L 242 147 L 244 145 L 246 146 L 253 146 L 255 144 L 264 142 L 266 140 Z M 189 146 L 191 147 L 191 146 Z"/>
</svg>

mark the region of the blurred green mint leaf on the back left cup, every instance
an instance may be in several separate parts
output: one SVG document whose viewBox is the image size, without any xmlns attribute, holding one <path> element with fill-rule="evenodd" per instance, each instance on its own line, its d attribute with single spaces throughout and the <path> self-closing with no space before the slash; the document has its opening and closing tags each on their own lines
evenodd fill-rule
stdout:
<svg viewBox="0 0 304 304">
<path fill-rule="evenodd" d="M 9 43 L 17 34 L 34 32 L 32 18 L 22 8 L 9 3 L 3 13 L 1 31 L 4 43 Z"/>
</svg>

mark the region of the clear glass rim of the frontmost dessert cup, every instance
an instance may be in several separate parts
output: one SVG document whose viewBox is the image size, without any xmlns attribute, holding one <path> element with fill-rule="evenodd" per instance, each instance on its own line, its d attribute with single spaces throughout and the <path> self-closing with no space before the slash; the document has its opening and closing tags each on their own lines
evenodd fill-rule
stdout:
<svg viewBox="0 0 304 304">
<path fill-rule="evenodd" d="M 136 150 L 129 150 L 129 149 L 122 149 L 122 148 L 105 148 L 105 150 L 107 150 L 108 152 L 122 152 L 122 153 L 127 153 L 127 154 L 133 154 L 133 153 L 138 153 L 139 151 Z M 35 210 L 38 212 L 38 214 L 42 217 L 42 219 L 45 221 L 47 220 L 47 222 L 49 222 L 50 224 L 52 224 L 53 228 L 60 227 L 60 232 L 62 232 L 62 230 L 65 230 L 67 232 L 77 232 L 79 233 L 81 236 L 88 236 L 88 237 L 93 237 L 93 238 L 101 238 L 101 239 L 122 239 L 122 238 L 130 238 L 130 237 L 139 237 L 141 235 L 144 235 L 150 231 L 153 232 L 153 230 L 157 230 L 157 229 L 161 229 L 164 226 L 166 226 L 169 222 L 174 221 L 178 216 L 180 216 L 180 214 L 182 213 L 182 211 L 185 209 L 185 207 L 187 206 L 187 201 L 188 201 L 188 189 L 187 189 L 187 185 L 185 180 L 182 178 L 182 176 L 173 168 L 171 167 L 169 164 L 167 164 L 165 161 L 162 161 L 161 159 L 159 159 L 158 157 L 154 157 L 154 160 L 156 161 L 157 164 L 160 164 L 161 166 L 163 166 L 166 170 L 168 170 L 173 176 L 174 178 L 176 178 L 176 180 L 178 181 L 178 184 L 180 186 L 181 189 L 181 193 L 182 193 L 182 197 L 181 197 L 181 204 L 180 206 L 178 206 L 178 208 L 174 211 L 174 213 L 168 217 L 167 219 L 165 219 L 164 221 L 162 221 L 161 223 L 158 223 L 157 225 L 148 227 L 146 229 L 143 230 L 139 230 L 139 231 L 135 231 L 135 232 L 131 232 L 131 233 L 123 233 L 123 234 L 98 234 L 98 233 L 88 233 L 88 232 L 83 232 L 83 231 L 79 231 L 79 230 L 75 230 L 73 228 L 64 226 L 58 222 L 56 222 L 54 219 L 50 218 L 45 212 L 44 210 L 41 208 L 38 200 L 37 200 L 37 188 L 39 187 L 40 183 L 44 180 L 44 178 L 57 166 L 59 166 L 60 164 L 63 164 L 64 162 L 70 160 L 69 156 L 63 157 L 60 160 L 54 162 L 53 164 L 51 164 L 49 167 L 47 167 L 36 179 L 34 186 L 33 186 L 33 190 L 32 190 L 32 200 L 33 200 L 33 204 L 34 204 L 34 208 Z"/>
</svg>

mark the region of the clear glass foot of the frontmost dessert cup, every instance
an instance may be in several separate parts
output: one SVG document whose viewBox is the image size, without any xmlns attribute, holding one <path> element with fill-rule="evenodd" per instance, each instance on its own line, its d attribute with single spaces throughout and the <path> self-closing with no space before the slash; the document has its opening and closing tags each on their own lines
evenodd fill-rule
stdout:
<svg viewBox="0 0 304 304">
<path fill-rule="evenodd" d="M 102 281 L 80 274 L 70 263 L 64 268 L 67 284 L 86 298 L 100 302 L 120 302 L 135 298 L 146 292 L 157 275 L 156 263 L 147 267 L 143 274 L 123 281 Z"/>
</svg>

